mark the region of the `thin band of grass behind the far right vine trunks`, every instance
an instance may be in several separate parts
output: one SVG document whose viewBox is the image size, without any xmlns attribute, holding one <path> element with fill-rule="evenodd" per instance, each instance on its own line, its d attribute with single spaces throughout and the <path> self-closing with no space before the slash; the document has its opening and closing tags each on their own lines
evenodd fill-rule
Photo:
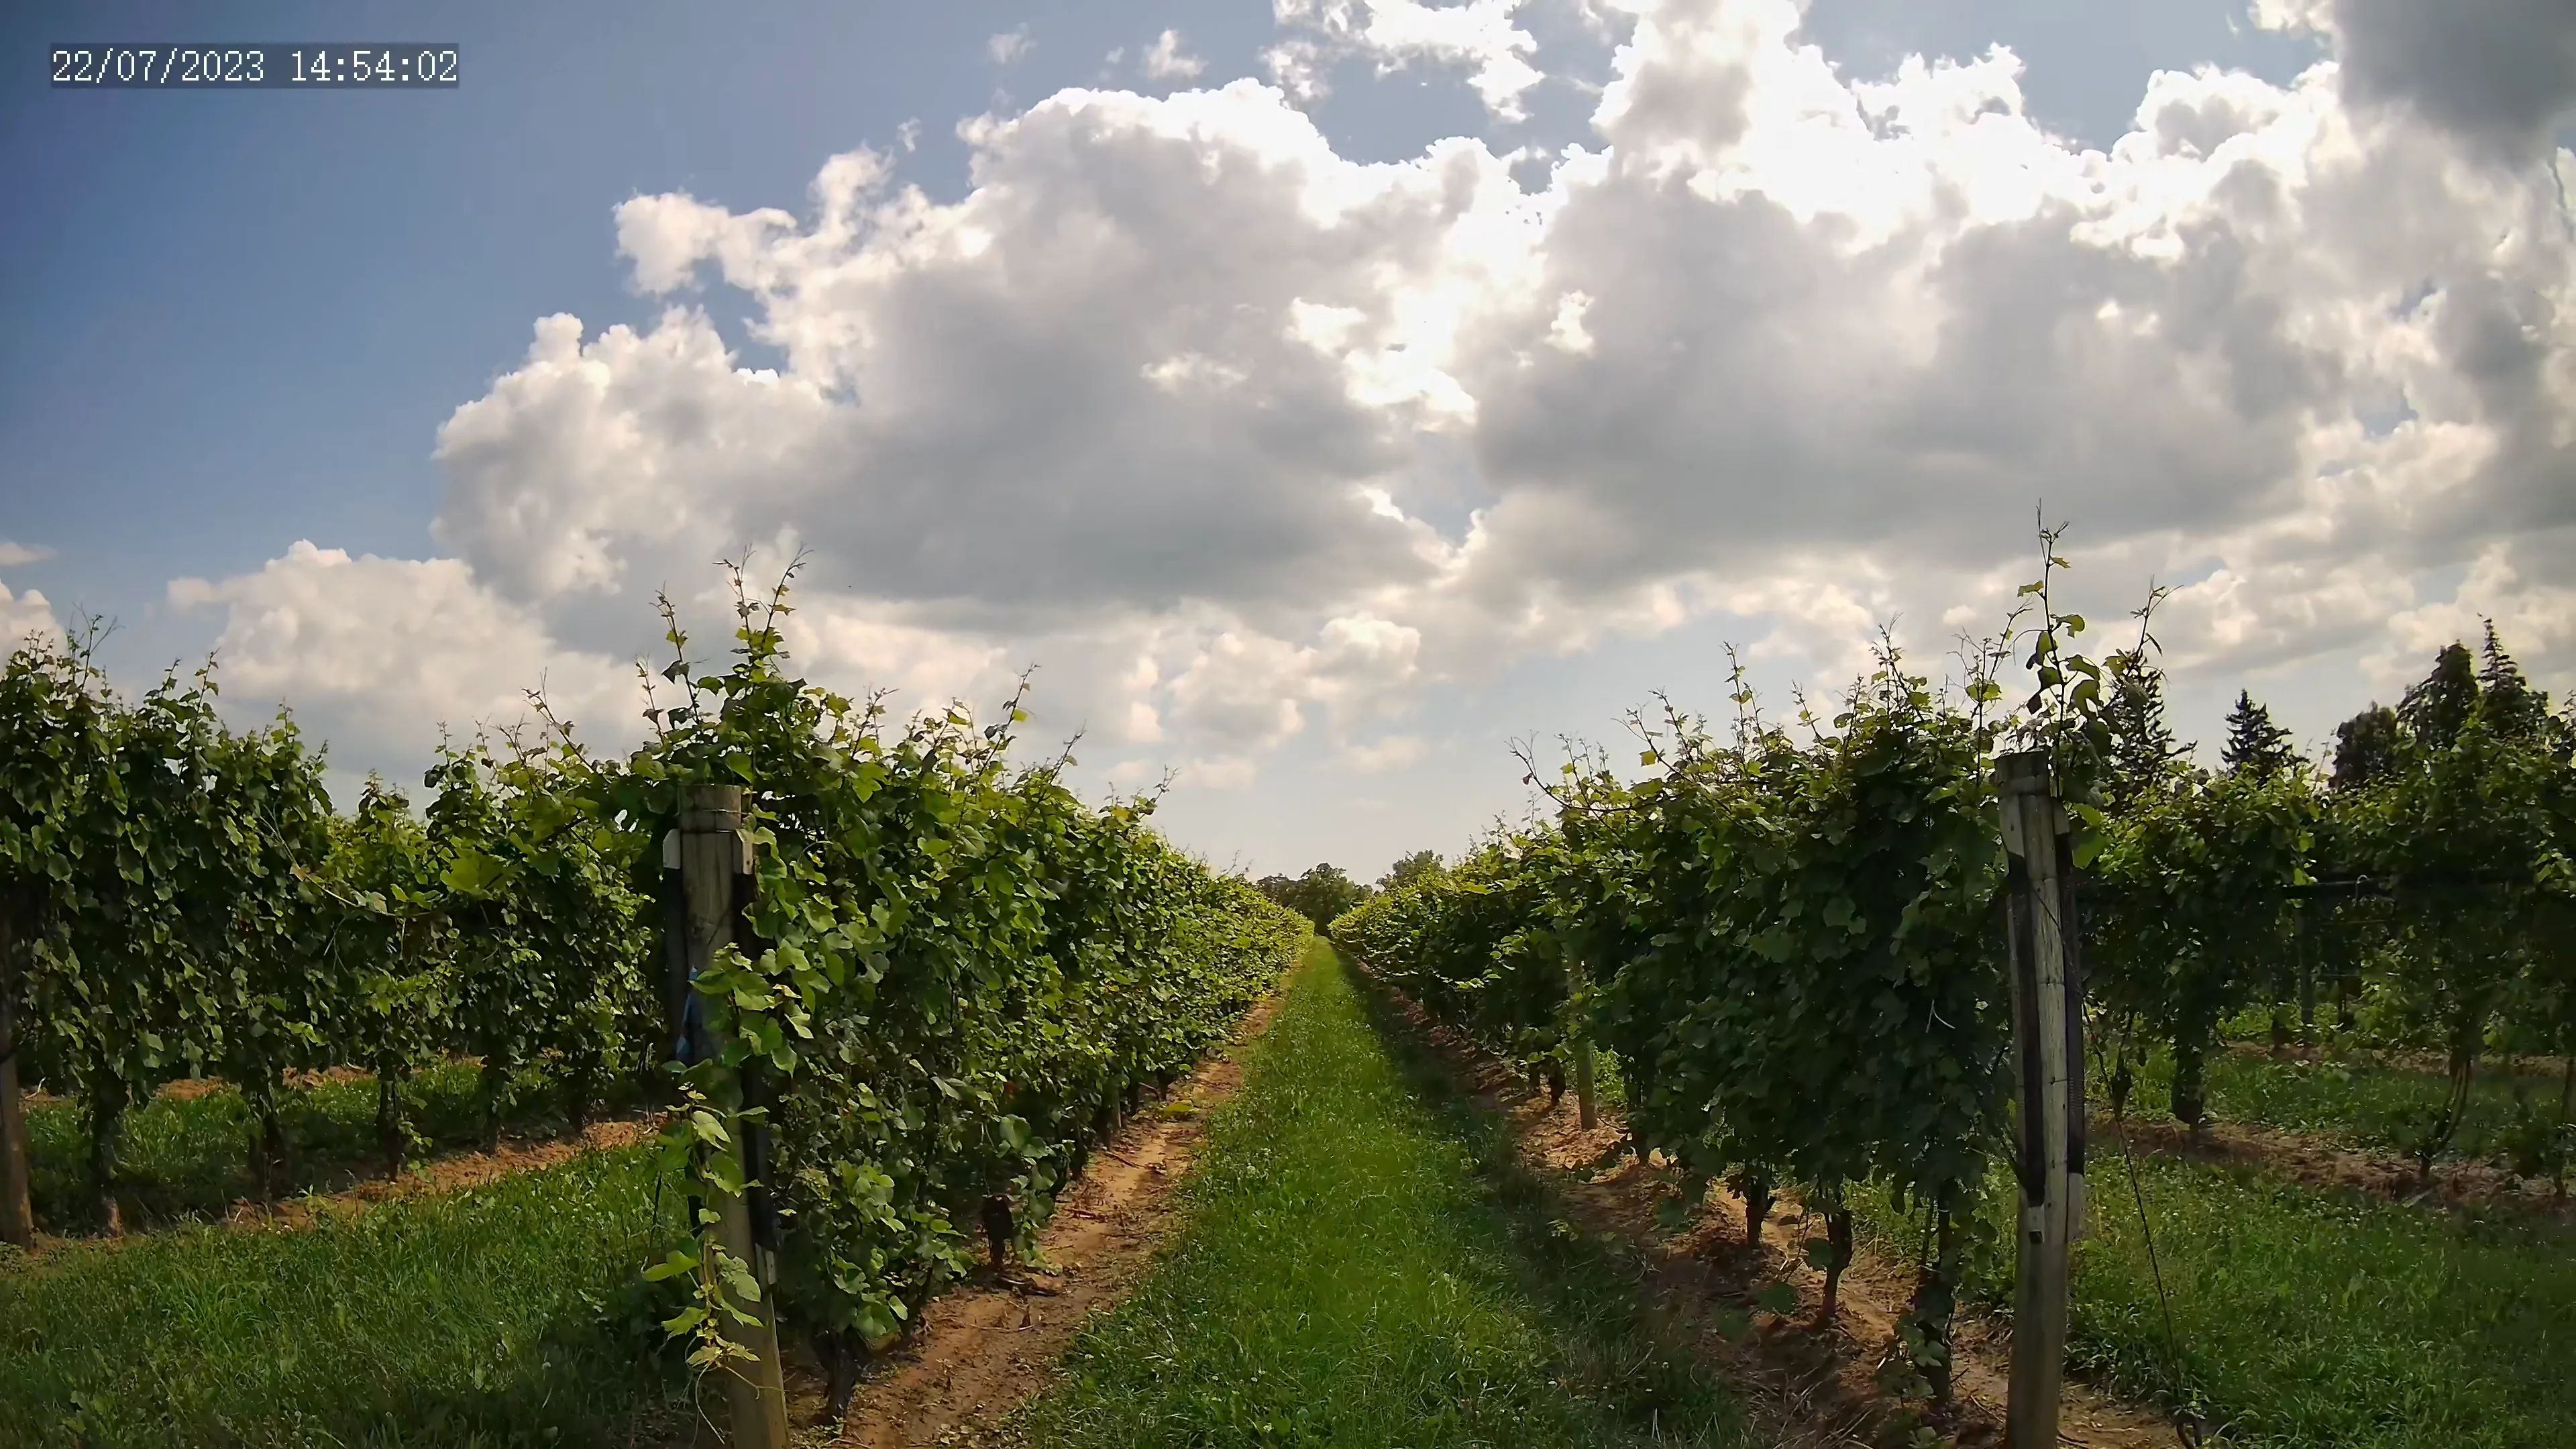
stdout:
<svg viewBox="0 0 2576 1449">
<path fill-rule="evenodd" d="M 2094 1073 L 2099 1078 L 2099 1073 Z M 2558 1109 L 2555 1078 L 2506 1078 L 2501 1065 L 2483 1065 L 2470 1093 L 2468 1119 L 2452 1140 L 2452 1158 L 2509 1160 L 2504 1134 L 2514 1122 L 2514 1088 L 2545 1111 Z M 2094 1096 L 2107 1106 L 2099 1083 Z M 2138 1067 L 2130 1111 L 2169 1111 L 2174 1060 L 2156 1052 Z M 2221 1122 L 2249 1122 L 2306 1132 L 2352 1147 L 2411 1152 L 2429 1132 L 2450 1083 L 2442 1073 L 2383 1067 L 2362 1060 L 2269 1060 L 2246 1052 L 2218 1052 L 2208 1065 L 2208 1106 Z M 2509 1163 L 2506 1163 L 2509 1165 Z"/>
</svg>

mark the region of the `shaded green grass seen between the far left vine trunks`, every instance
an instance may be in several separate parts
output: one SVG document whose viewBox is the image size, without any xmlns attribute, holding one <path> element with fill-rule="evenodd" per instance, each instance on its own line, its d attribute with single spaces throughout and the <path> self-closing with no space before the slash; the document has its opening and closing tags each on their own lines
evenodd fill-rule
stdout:
<svg viewBox="0 0 2576 1449">
<path fill-rule="evenodd" d="M 440 1062 L 404 1083 L 412 1129 L 428 1140 L 430 1152 L 482 1142 L 474 1109 L 479 1075 L 471 1062 Z M 559 1093 L 544 1088 L 544 1078 L 520 1073 L 510 1129 L 564 1127 Z M 337 1191 L 381 1171 L 374 1075 L 291 1091 L 283 1119 L 296 1163 L 283 1191 Z M 129 1222 L 149 1227 L 222 1217 L 234 1201 L 252 1196 L 250 1137 L 250 1106 L 229 1085 L 201 1096 L 165 1091 L 126 1111 L 116 1186 Z M 77 1104 L 49 1101 L 28 1111 L 28 1178 L 44 1230 L 95 1227 L 88 1119 Z"/>
</svg>

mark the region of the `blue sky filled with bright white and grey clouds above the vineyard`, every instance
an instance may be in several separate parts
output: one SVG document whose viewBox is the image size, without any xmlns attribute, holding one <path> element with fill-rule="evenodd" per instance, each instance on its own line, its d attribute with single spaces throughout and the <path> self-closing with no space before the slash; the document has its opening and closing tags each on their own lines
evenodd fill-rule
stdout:
<svg viewBox="0 0 2576 1449">
<path fill-rule="evenodd" d="M 113 619 L 106 657 L 129 683 L 222 642 L 237 709 L 294 704 L 345 779 L 412 776 L 430 722 L 500 709 L 487 676 L 507 668 L 587 688 L 613 737 L 600 665 L 649 645 L 652 585 L 690 598 L 716 552 L 793 539 L 817 549 L 811 588 L 832 601 L 822 673 L 987 696 L 1038 663 L 1041 724 L 1087 730 L 1103 789 L 1177 771 L 1167 822 L 1185 843 L 1260 869 L 1329 856 L 1363 871 L 1517 812 L 1510 737 L 1610 735 L 1654 688 L 1710 704 L 1726 639 L 1752 647 L 1772 694 L 1832 688 L 1873 616 L 1911 621 L 1909 645 L 1935 660 L 1953 614 L 1994 611 L 2043 492 L 2053 511 L 2066 500 L 2092 549 L 2079 578 L 2099 580 L 2112 614 L 2151 575 L 2184 585 L 2166 645 L 2195 732 L 2215 732 L 2251 683 L 2316 737 L 2476 614 L 2519 627 L 2535 668 L 2566 681 L 2576 549 L 2553 539 L 2576 505 L 2561 320 L 2576 291 L 2548 217 L 2576 77 L 2553 90 L 2540 67 L 2501 116 L 2452 80 L 2483 54 L 2576 57 L 2550 5 L 2468 5 L 2460 34 L 2437 36 L 2468 59 L 2442 70 L 2442 52 L 2421 72 L 2388 54 L 2424 39 L 2383 34 L 2362 0 L 2272 0 L 2267 15 L 2128 3 L 2081 21 L 2040 0 L 1481 0 L 1481 31 L 1440 10 L 556 3 L 420 21 L 420 5 L 15 5 L 0 18 L 23 59 L 0 88 L 0 180 L 18 199 L 0 211 L 8 619 Z M 1484 39 L 1461 49 L 1422 26 Z M 67 39 L 435 39 L 461 44 L 464 85 L 57 93 L 28 57 Z M 1793 64 L 1806 44 L 1826 70 Z M 1901 85 L 1906 57 L 1976 62 L 1989 46 L 2020 70 L 1917 64 L 1927 80 L 1888 101 L 1929 116 L 1986 95 L 1958 119 L 1870 121 L 1839 150 L 1798 150 L 1821 144 L 1819 121 L 1795 119 L 1819 95 L 1880 106 L 1899 93 L 1860 83 Z M 2329 57 L 2342 80 L 2316 72 L 2303 90 Z M 1497 103 L 1502 62 L 1533 80 Z M 2213 70 L 2169 90 L 2179 139 L 2141 137 L 2125 170 L 2087 183 L 2076 157 L 2123 142 L 2151 75 L 2192 67 Z M 1273 90 L 1172 101 L 1236 80 Z M 1079 108 L 1069 88 L 1139 101 Z M 1736 90 L 1757 98 L 1741 134 L 1700 106 Z M 1976 129 L 1976 106 L 2020 129 Z M 984 129 L 961 134 L 974 119 Z M 2336 129 L 2352 139 L 2321 139 Z M 2264 168 L 2295 206 L 2249 199 L 2249 173 L 2221 183 L 2228 134 L 2244 137 L 2236 165 Z M 1172 144 L 1200 147 L 1208 178 L 1239 155 L 1309 186 L 1376 186 L 1376 165 L 1412 191 L 1381 199 L 1383 255 L 1352 255 L 1350 227 L 1309 232 L 1280 222 L 1293 209 L 1265 211 L 1275 199 L 1190 191 L 1185 168 L 1154 160 Z M 1569 144 L 1595 170 L 1558 165 Z M 829 266 L 775 227 L 726 242 L 757 253 L 737 253 L 750 286 L 726 284 L 737 263 L 711 240 L 716 219 L 783 209 L 811 232 L 824 162 L 855 150 L 886 173 L 855 193 L 866 206 L 920 188 L 935 211 L 922 235 L 999 224 L 992 255 L 1007 266 L 933 266 L 878 219 Z M 1499 201 L 1443 211 L 1437 165 L 1466 168 L 1450 186 L 1489 165 L 1520 199 L 1489 188 Z M 1929 178 L 1922 199 L 1880 214 L 1865 178 L 1883 165 Z M 1996 180 L 2014 175 L 2053 188 L 2035 219 Z M 1973 201 L 1945 204 L 1942 188 Z M 2388 209 L 2378 222 L 2357 209 L 2367 196 Z M 1515 222 L 1512 206 L 1548 219 Z M 2115 211 L 2130 232 L 2107 242 Z M 1054 232 L 1072 222 L 1128 229 L 1146 253 L 1190 240 L 1090 266 L 1061 260 L 1082 250 L 1061 237 L 1087 235 Z M 2499 224 L 2522 227 L 2522 250 L 2476 260 L 2465 237 Z M 1512 240 L 1461 242 L 1481 227 Z M 2360 237 L 2372 227 L 2403 237 Z M 2141 240 L 2166 232 L 2179 263 Z M 644 276 L 652 248 L 677 248 L 672 276 Z M 871 255 L 917 284 L 871 281 Z M 1940 284 L 1899 281 L 1899 258 L 1937 263 Z M 2360 302 L 2396 315 L 2388 278 L 2416 273 L 2434 291 L 2403 325 L 2344 322 Z M 1188 276 L 1172 284 L 1188 297 L 1157 276 Z M 976 315 L 979 297 L 1015 299 L 1018 320 Z M 1350 320 L 1298 312 L 1321 302 Z M 608 443 L 582 431 L 587 413 L 538 397 L 556 374 L 531 364 L 536 322 L 580 317 L 574 345 L 613 325 L 677 345 L 657 333 L 675 304 L 732 358 L 654 371 L 595 356 L 616 374 L 605 407 L 634 407 L 618 446 L 641 451 L 598 464 L 590 495 L 546 492 L 564 459 Z M 1211 330 L 1226 304 L 1275 309 L 1262 338 L 1342 348 L 1347 394 L 1309 394 L 1309 351 Z M 2045 307 L 2058 333 L 2032 330 Z M 2035 340 L 2138 309 L 2159 322 L 2112 351 Z M 1865 333 L 1878 317 L 1883 345 Z M 1139 410 L 1105 400 L 1054 418 L 1092 394 L 1079 358 L 1121 327 L 1170 351 L 1128 389 Z M 1767 327 L 1798 340 L 1790 356 L 1736 358 Z M 2501 382 L 2501 364 L 2478 361 L 2494 345 L 2473 345 L 2496 327 L 2527 353 Z M 858 356 L 853 330 L 891 340 Z M 1561 343 L 1538 353 L 1538 382 L 1489 366 L 1512 338 Z M 1646 338 L 1667 351 L 1636 351 Z M 742 402 L 729 366 L 773 369 L 811 400 L 729 423 L 737 405 L 778 407 Z M 1865 456 L 1844 456 L 1821 413 L 1780 425 L 1878 397 L 1888 366 L 1904 405 L 1855 405 Z M 621 402 L 629 376 L 644 402 Z M 1229 413 L 1188 405 L 1193 387 L 1278 392 Z M 2202 387 L 2223 397 L 2197 400 Z M 1623 400 L 1646 397 L 1651 423 L 1620 420 Z M 440 456 L 466 405 L 482 441 Z M 1311 438 L 1244 441 L 1273 405 L 1306 410 Z M 2421 420 L 2339 433 L 2357 413 Z M 1018 418 L 1030 436 L 997 438 Z M 755 456 L 762 428 L 793 436 L 793 456 Z M 696 485 L 667 487 L 711 492 L 654 482 L 665 492 L 611 505 L 626 498 L 618 467 L 690 472 Z M 940 500 L 945 513 L 922 513 Z M 706 529 L 647 539 L 659 521 L 616 508 Z M 546 552 L 544 529 L 567 518 Z M 1164 521 L 1167 547 L 1123 541 Z M 404 567 L 312 562 L 332 549 Z M 422 632 L 420 614 L 443 624 Z M 456 657 L 412 670 L 407 650 Z"/>
</svg>

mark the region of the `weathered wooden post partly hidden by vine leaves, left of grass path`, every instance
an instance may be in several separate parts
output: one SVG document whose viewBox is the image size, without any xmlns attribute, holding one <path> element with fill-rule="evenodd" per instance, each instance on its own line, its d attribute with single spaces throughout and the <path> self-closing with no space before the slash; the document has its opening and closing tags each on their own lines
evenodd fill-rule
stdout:
<svg viewBox="0 0 2576 1449">
<path fill-rule="evenodd" d="M 675 848 L 672 848 L 675 846 Z M 734 941 L 737 877 L 752 874 L 752 843 L 742 835 L 742 786 L 696 784 L 680 807 L 677 838 L 665 846 L 665 861 L 677 856 L 680 892 L 685 900 L 685 967 L 688 980 L 708 969 L 726 944 Z M 688 998 L 683 995 L 683 1008 Z M 724 1039 L 693 1034 L 693 1055 L 724 1055 Z M 744 1173 L 752 1171 L 750 1142 L 739 1142 Z M 786 1449 L 788 1395 L 778 1366 L 778 1266 L 770 1253 L 752 1240 L 752 1204 L 744 1196 L 714 1189 L 716 1243 L 739 1258 L 760 1281 L 760 1302 L 750 1305 L 757 1323 L 724 1325 L 724 1336 L 752 1351 L 755 1364 L 726 1374 L 726 1400 L 734 1421 L 734 1449 Z"/>
</svg>

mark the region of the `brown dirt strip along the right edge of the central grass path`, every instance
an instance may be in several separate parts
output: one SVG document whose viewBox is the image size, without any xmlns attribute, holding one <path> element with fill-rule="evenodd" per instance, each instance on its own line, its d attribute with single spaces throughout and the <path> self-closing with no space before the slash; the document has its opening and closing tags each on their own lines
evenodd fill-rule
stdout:
<svg viewBox="0 0 2576 1449">
<path fill-rule="evenodd" d="M 1455 1031 L 1432 1021 L 1394 987 L 1376 982 L 1396 1013 L 1448 1067 L 1450 1078 L 1486 1109 L 1502 1114 L 1528 1168 L 1558 1196 L 1569 1222 L 1625 1245 L 1641 1287 L 1690 1336 L 1703 1359 L 1757 1395 L 1785 1446 L 1888 1444 L 1901 1434 L 1901 1405 L 1878 1387 L 1875 1369 L 1896 1336 L 1896 1318 L 1914 1292 L 1914 1274 L 1860 1250 L 1842 1276 L 1842 1310 L 1832 1328 L 1816 1328 L 1824 1274 L 1798 1250 L 1811 1235 L 1803 1209 L 1783 1201 L 1762 1232 L 1744 1243 L 1744 1204 L 1721 1189 L 1682 1232 L 1656 1225 L 1656 1204 L 1677 1186 L 1662 1158 L 1649 1165 L 1623 1155 L 1602 1168 L 1625 1137 L 1618 1109 L 1605 1106 L 1584 1132 L 1574 1093 L 1548 1106 L 1525 1078 Z M 1821 1227 L 1821 1222 L 1816 1225 Z M 1793 1315 L 1754 1307 L 1754 1292 L 1785 1281 L 1801 1294 Z M 1749 1330 L 1747 1330 L 1749 1323 Z M 1728 1328 L 1736 1333 L 1728 1336 Z M 2009 1341 L 1976 1318 L 1960 1315 L 1955 1338 L 1955 1410 L 1940 1423 L 1960 1446 L 2002 1444 Z M 2066 1385 L 2061 1444 L 2084 1449 L 2169 1449 L 2174 1428 L 2141 1408 L 2087 1385 Z"/>
</svg>

